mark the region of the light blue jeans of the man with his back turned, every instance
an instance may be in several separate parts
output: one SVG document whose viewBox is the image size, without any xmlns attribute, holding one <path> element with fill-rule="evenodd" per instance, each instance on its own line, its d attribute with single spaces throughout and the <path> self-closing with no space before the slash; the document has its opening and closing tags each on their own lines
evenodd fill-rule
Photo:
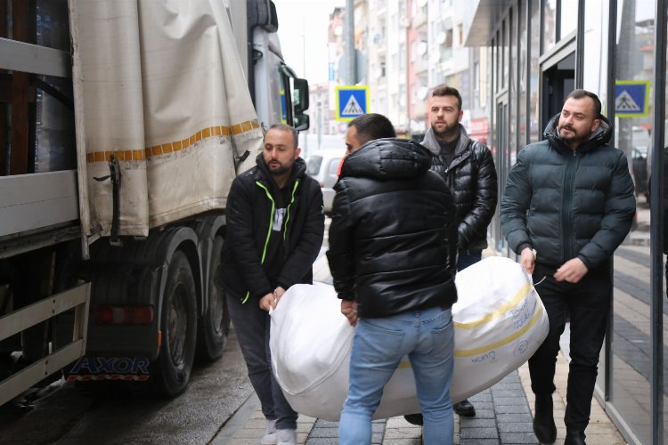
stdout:
<svg viewBox="0 0 668 445">
<path fill-rule="evenodd" d="M 440 307 L 357 322 L 348 396 L 338 426 L 341 445 L 371 443 L 371 418 L 383 387 L 408 355 L 424 417 L 426 445 L 452 444 L 452 310 Z"/>
</svg>

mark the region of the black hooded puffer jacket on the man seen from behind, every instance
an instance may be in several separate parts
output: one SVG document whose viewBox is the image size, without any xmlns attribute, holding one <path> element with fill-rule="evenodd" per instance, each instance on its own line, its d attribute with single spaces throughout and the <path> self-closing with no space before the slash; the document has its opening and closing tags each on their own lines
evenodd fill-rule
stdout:
<svg viewBox="0 0 668 445">
<path fill-rule="evenodd" d="M 346 158 L 335 185 L 327 258 L 338 297 L 360 317 L 450 307 L 457 289 L 452 198 L 429 151 L 379 139 Z"/>
</svg>

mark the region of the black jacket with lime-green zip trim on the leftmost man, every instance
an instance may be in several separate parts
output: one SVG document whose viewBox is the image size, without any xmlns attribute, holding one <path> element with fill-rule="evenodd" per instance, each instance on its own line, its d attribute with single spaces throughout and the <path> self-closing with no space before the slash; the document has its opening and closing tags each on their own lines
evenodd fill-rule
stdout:
<svg viewBox="0 0 668 445">
<path fill-rule="evenodd" d="M 285 289 L 297 283 L 313 282 L 313 264 L 322 247 L 324 213 L 322 190 L 305 174 L 304 159 L 297 158 L 286 187 L 289 201 L 285 215 L 285 257 L 276 283 L 270 283 L 265 267 L 265 249 L 272 233 L 273 198 L 278 192 L 262 154 L 257 166 L 237 176 L 227 198 L 227 233 L 223 245 L 223 285 L 244 301 Z"/>
</svg>

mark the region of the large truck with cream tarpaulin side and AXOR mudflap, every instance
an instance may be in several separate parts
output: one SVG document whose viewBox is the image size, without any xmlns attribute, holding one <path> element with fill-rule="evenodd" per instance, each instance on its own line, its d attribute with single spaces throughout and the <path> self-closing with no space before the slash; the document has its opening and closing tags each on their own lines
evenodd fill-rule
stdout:
<svg viewBox="0 0 668 445">
<path fill-rule="evenodd" d="M 308 128 L 271 0 L 0 2 L 0 405 L 45 379 L 175 396 L 230 328 L 232 180 Z"/>
</svg>

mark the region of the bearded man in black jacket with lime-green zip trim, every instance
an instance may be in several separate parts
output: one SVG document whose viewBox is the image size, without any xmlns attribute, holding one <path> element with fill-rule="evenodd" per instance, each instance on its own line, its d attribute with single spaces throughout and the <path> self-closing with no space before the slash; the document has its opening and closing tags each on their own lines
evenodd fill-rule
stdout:
<svg viewBox="0 0 668 445">
<path fill-rule="evenodd" d="M 269 310 L 293 284 L 313 282 L 324 213 L 318 182 L 305 174 L 297 131 L 273 125 L 257 166 L 232 182 L 222 282 L 248 377 L 266 417 L 261 443 L 296 445 L 297 413 L 272 372 Z"/>
</svg>

